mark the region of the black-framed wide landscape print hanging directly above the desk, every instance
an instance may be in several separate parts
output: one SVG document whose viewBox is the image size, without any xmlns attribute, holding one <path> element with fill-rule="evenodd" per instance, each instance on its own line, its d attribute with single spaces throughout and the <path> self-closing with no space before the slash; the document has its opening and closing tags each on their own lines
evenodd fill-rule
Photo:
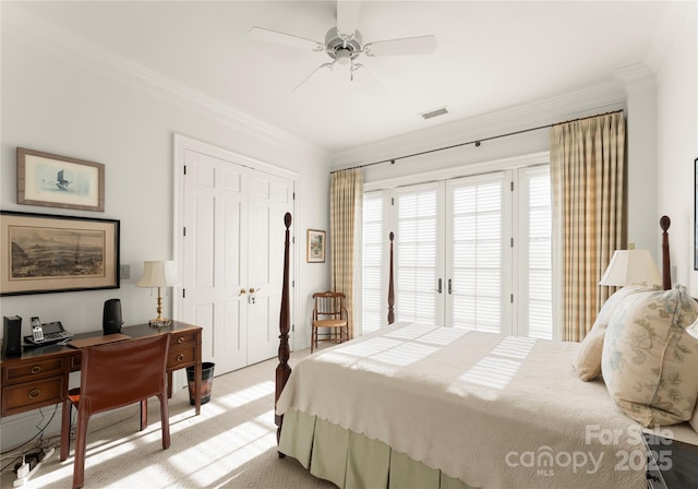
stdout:
<svg viewBox="0 0 698 489">
<path fill-rule="evenodd" d="M 119 288 L 120 222 L 0 211 L 0 296 Z"/>
</svg>

